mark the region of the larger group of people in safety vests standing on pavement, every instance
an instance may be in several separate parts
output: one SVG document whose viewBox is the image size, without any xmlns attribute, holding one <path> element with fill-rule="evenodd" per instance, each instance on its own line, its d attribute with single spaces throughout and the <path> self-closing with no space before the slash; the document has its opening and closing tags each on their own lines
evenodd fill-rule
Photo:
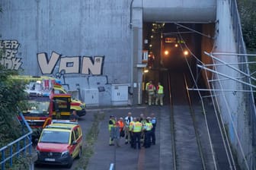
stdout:
<svg viewBox="0 0 256 170">
<path fill-rule="evenodd" d="M 152 113 L 151 117 L 145 118 L 143 114 L 139 118 L 133 118 L 132 113 L 128 112 L 126 118 L 119 118 L 117 121 L 114 115 L 110 115 L 108 130 L 110 132 L 109 145 L 114 146 L 114 141 L 117 141 L 117 146 L 120 146 L 120 138 L 125 138 L 125 144 L 130 143 L 133 149 L 141 149 L 141 144 L 145 148 L 149 148 L 152 144 L 155 145 L 155 127 L 156 118 Z"/>
</svg>

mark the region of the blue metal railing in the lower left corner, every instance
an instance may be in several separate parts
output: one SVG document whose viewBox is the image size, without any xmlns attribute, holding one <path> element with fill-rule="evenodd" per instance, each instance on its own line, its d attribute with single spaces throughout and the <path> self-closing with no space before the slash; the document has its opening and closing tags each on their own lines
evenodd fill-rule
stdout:
<svg viewBox="0 0 256 170">
<path fill-rule="evenodd" d="M 8 164 L 9 167 L 12 167 L 14 156 L 17 156 L 17 158 L 21 158 L 21 156 L 23 157 L 27 156 L 27 149 L 28 149 L 29 156 L 31 156 L 32 130 L 30 126 L 27 124 L 27 121 L 25 120 L 22 113 L 20 113 L 19 115 L 22 118 L 21 124 L 22 124 L 22 131 L 24 135 L 22 137 L 19 137 L 17 140 L 14 140 L 13 142 L 8 143 L 8 145 L 3 146 L 0 149 L 0 157 L 1 157 L 0 164 L 1 164 L 2 170 L 5 170 L 6 164 Z M 25 134 L 25 128 L 28 129 L 27 134 Z"/>
</svg>

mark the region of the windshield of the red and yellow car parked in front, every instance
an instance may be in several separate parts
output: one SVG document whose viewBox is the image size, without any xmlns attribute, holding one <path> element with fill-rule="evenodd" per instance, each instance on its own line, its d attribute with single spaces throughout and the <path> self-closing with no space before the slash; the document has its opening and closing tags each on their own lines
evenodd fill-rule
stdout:
<svg viewBox="0 0 256 170">
<path fill-rule="evenodd" d="M 41 143 L 69 143 L 69 131 L 43 131 Z"/>
</svg>

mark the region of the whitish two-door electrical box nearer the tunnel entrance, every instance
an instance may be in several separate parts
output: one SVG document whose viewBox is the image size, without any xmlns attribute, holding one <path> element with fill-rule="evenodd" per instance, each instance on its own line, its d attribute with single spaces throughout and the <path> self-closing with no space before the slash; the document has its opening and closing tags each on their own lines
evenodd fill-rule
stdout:
<svg viewBox="0 0 256 170">
<path fill-rule="evenodd" d="M 128 84 L 111 85 L 112 105 L 128 105 Z"/>
</svg>

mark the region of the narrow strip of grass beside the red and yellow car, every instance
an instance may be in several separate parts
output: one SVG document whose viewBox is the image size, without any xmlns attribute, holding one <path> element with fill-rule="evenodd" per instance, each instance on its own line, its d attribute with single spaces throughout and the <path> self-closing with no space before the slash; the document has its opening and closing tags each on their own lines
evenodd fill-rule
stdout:
<svg viewBox="0 0 256 170">
<path fill-rule="evenodd" d="M 99 124 L 104 120 L 104 113 L 94 114 L 94 121 L 91 124 L 91 128 L 85 137 L 85 146 L 82 150 L 82 157 L 78 160 L 78 165 L 75 167 L 77 170 L 85 170 L 87 168 L 89 159 L 94 154 L 94 143 L 98 138 Z"/>
</svg>

